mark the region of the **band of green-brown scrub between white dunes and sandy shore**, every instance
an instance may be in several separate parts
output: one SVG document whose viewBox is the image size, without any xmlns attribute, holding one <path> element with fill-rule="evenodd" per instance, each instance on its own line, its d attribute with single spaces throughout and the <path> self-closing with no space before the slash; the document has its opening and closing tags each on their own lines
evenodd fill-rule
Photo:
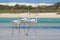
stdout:
<svg viewBox="0 0 60 40">
<path fill-rule="evenodd" d="M 24 13 L 24 12 L 32 12 L 32 13 L 60 12 L 60 2 L 57 2 L 52 6 L 38 6 L 38 7 L 18 5 L 18 4 L 16 4 L 15 6 L 0 5 L 0 13 Z"/>
</svg>

